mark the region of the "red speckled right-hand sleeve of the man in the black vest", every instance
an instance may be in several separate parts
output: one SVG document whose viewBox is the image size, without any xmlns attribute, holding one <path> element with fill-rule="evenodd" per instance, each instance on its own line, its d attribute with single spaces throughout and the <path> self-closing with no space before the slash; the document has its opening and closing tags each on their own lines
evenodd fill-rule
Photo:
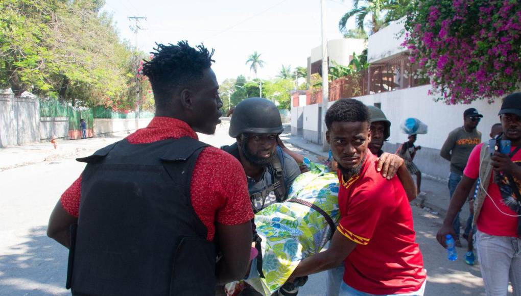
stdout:
<svg viewBox="0 0 521 296">
<path fill-rule="evenodd" d="M 191 184 L 192 207 L 215 234 L 215 222 L 237 225 L 254 217 L 246 174 L 241 163 L 215 147 L 204 149 L 195 163 Z"/>
</svg>

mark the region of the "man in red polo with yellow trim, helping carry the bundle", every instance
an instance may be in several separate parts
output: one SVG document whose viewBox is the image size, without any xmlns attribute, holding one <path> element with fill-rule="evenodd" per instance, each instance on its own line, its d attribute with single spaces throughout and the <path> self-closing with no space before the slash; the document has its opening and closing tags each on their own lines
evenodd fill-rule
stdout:
<svg viewBox="0 0 521 296">
<path fill-rule="evenodd" d="M 293 277 L 344 261 L 340 295 L 418 295 L 427 274 L 415 242 L 412 210 L 398 178 L 377 172 L 367 107 L 341 99 L 326 114 L 326 137 L 338 162 L 341 218 L 328 250 L 304 259 Z"/>
</svg>

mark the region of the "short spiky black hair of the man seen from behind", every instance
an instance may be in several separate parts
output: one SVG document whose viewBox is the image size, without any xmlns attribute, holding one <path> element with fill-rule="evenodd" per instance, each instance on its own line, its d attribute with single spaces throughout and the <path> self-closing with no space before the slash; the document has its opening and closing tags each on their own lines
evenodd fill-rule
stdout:
<svg viewBox="0 0 521 296">
<path fill-rule="evenodd" d="M 152 85 L 156 107 L 164 107 L 173 92 L 203 78 L 203 71 L 215 62 L 212 59 L 214 49 L 209 52 L 203 44 L 193 48 L 188 41 L 156 45 L 152 59 L 143 65 L 143 74 Z"/>
</svg>

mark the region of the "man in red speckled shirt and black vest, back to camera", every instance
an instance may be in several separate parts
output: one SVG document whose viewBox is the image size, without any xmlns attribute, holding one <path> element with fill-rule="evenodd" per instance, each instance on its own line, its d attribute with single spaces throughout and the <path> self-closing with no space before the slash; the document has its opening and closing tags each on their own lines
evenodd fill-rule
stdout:
<svg viewBox="0 0 521 296">
<path fill-rule="evenodd" d="M 70 249 L 73 294 L 214 295 L 246 274 L 253 211 L 244 170 L 196 134 L 220 122 L 212 55 L 203 45 L 159 44 L 143 67 L 156 117 L 78 159 L 86 168 L 47 229 Z"/>
</svg>

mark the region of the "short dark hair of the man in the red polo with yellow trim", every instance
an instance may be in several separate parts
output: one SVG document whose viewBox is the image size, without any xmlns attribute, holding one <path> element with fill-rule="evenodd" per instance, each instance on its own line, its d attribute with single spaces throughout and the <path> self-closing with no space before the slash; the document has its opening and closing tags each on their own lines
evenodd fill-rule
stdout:
<svg viewBox="0 0 521 296">
<path fill-rule="evenodd" d="M 363 102 L 355 99 L 340 99 L 326 112 L 326 126 L 331 129 L 333 122 L 367 122 L 371 123 L 369 109 Z"/>
</svg>

